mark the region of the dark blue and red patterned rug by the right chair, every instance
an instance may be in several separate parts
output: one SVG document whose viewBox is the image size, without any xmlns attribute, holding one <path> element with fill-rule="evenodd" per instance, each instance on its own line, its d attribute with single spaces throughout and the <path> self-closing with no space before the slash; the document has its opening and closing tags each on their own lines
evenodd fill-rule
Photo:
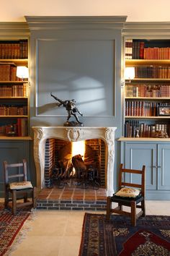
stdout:
<svg viewBox="0 0 170 256">
<path fill-rule="evenodd" d="M 130 218 L 85 213 L 79 256 L 169 256 L 170 216 Z"/>
</svg>

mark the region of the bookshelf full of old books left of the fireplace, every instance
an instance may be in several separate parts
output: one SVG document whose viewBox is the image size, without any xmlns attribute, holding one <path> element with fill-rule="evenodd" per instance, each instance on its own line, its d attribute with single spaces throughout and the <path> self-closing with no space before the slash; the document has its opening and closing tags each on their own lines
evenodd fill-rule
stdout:
<svg viewBox="0 0 170 256">
<path fill-rule="evenodd" d="M 0 138 L 27 138 L 29 83 L 17 77 L 28 67 L 28 40 L 0 40 Z"/>
</svg>

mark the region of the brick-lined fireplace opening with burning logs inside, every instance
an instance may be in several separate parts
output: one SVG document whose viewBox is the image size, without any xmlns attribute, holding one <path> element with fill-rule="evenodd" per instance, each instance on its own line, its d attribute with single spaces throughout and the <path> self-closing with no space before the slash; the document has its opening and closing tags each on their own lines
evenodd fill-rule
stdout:
<svg viewBox="0 0 170 256">
<path fill-rule="evenodd" d="M 101 139 L 45 141 L 45 187 L 106 188 L 105 144 Z"/>
</svg>

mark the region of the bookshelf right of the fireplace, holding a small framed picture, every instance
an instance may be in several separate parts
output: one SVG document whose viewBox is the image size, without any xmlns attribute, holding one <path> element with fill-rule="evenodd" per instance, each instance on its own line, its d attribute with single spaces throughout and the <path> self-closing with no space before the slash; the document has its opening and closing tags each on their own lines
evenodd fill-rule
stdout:
<svg viewBox="0 0 170 256">
<path fill-rule="evenodd" d="M 124 137 L 170 137 L 170 40 L 125 40 Z"/>
</svg>

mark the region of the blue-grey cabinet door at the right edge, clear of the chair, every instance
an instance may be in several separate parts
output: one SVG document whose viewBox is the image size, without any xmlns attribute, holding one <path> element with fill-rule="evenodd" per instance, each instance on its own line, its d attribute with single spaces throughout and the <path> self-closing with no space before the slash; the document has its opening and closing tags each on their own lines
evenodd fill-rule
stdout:
<svg viewBox="0 0 170 256">
<path fill-rule="evenodd" d="M 170 145 L 158 145 L 158 189 L 170 190 Z"/>
</svg>

